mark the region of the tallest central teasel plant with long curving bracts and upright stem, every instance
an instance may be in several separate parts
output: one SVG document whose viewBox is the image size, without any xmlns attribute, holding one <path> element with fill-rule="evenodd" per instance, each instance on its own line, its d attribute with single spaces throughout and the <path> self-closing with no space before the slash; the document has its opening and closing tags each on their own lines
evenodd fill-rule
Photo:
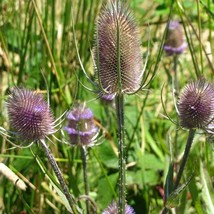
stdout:
<svg viewBox="0 0 214 214">
<path fill-rule="evenodd" d="M 170 8 L 169 17 L 171 16 L 172 6 L 173 4 Z M 88 88 L 81 82 L 80 84 L 88 91 L 97 94 L 98 98 L 108 95 L 115 97 L 119 153 L 118 213 L 125 213 L 126 144 L 124 96 L 137 94 L 154 79 L 163 52 L 166 29 L 161 40 L 154 72 L 150 72 L 151 68 L 146 72 L 150 43 L 148 42 L 145 63 L 142 66 L 140 36 L 135 19 L 125 1 L 109 0 L 101 9 L 98 17 L 95 30 L 95 44 L 93 50 L 91 50 L 97 81 L 93 81 L 90 78 L 81 61 L 73 14 L 72 29 L 80 67 L 86 79 L 93 85 L 93 88 Z M 149 37 L 148 33 L 148 40 Z"/>
</svg>

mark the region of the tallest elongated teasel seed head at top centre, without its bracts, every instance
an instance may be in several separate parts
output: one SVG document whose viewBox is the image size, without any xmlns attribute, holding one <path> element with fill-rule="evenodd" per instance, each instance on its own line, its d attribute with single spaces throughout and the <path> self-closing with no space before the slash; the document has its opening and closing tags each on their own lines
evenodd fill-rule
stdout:
<svg viewBox="0 0 214 214">
<path fill-rule="evenodd" d="M 117 50 L 120 47 L 122 93 L 134 93 L 140 87 L 142 78 L 141 48 L 139 33 L 129 9 L 120 2 L 108 3 L 99 16 L 95 37 L 95 68 L 102 88 L 108 94 L 119 92 Z"/>
</svg>

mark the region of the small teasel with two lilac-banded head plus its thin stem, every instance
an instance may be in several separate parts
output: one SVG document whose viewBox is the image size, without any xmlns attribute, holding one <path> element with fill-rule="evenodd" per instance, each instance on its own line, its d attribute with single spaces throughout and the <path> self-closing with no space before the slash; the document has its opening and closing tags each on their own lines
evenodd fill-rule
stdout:
<svg viewBox="0 0 214 214">
<path fill-rule="evenodd" d="M 90 198 L 90 186 L 88 180 L 88 152 L 89 148 L 98 142 L 99 129 L 95 124 L 94 115 L 85 103 L 76 104 L 67 114 L 68 124 L 64 127 L 69 135 L 69 145 L 79 147 L 83 165 L 83 180 L 85 195 L 81 198 L 86 200 L 86 213 L 97 213 L 96 206 Z M 90 203 L 93 205 L 90 206 Z"/>
</svg>

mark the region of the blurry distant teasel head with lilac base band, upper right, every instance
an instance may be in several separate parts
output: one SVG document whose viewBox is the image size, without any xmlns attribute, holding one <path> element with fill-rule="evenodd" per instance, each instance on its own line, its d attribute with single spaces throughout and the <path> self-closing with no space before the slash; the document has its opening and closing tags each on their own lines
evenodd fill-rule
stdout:
<svg viewBox="0 0 214 214">
<path fill-rule="evenodd" d="M 183 53 L 186 48 L 181 25 L 178 21 L 170 21 L 164 50 L 168 55 L 173 55 Z"/>
</svg>

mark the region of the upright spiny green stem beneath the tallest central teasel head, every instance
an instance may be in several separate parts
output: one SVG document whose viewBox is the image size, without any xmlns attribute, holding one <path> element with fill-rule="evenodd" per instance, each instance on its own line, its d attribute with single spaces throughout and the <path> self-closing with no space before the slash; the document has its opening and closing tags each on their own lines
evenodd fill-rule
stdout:
<svg viewBox="0 0 214 214">
<path fill-rule="evenodd" d="M 125 129 L 124 129 L 124 96 L 116 97 L 118 143 L 119 143 L 119 214 L 125 213 L 126 204 L 126 160 L 125 160 Z"/>
</svg>

